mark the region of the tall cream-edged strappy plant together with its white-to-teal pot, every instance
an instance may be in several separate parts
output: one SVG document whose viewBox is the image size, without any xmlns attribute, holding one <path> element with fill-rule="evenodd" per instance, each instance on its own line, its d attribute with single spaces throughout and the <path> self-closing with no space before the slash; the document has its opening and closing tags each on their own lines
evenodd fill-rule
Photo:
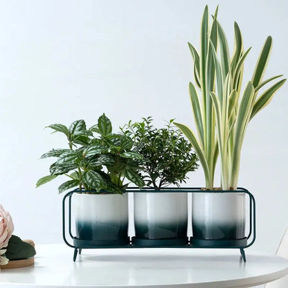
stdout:
<svg viewBox="0 0 288 288">
<path fill-rule="evenodd" d="M 192 207 L 193 243 L 204 246 L 215 243 L 228 246 L 229 240 L 235 245 L 233 240 L 245 239 L 245 199 L 243 193 L 237 192 L 244 135 L 250 120 L 269 104 L 286 81 L 280 80 L 263 91 L 272 80 L 282 76 L 263 80 L 271 53 L 269 36 L 251 81 L 241 89 L 244 60 L 251 48 L 244 51 L 240 28 L 235 22 L 235 49 L 230 56 L 226 35 L 217 20 L 217 10 L 211 26 L 208 6 L 204 10 L 199 52 L 189 43 L 195 76 L 195 84 L 189 83 L 189 91 L 198 136 L 187 125 L 175 123 L 192 143 L 204 169 L 206 188 L 193 195 Z M 197 90 L 201 91 L 201 97 Z M 221 188 L 215 188 L 213 183 L 218 154 Z M 234 192 L 205 192 L 213 189 Z"/>
</svg>

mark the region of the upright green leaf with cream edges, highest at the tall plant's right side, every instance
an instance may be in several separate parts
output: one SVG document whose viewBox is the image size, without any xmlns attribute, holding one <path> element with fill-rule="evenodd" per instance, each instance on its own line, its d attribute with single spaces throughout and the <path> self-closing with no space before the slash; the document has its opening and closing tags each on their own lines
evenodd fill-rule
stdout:
<svg viewBox="0 0 288 288">
<path fill-rule="evenodd" d="M 264 43 L 260 56 L 258 58 L 257 64 L 255 66 L 252 78 L 253 87 L 258 87 L 259 83 L 263 78 L 264 71 L 268 64 L 269 55 L 271 53 L 271 48 L 272 48 L 272 37 L 268 36 Z"/>
</svg>

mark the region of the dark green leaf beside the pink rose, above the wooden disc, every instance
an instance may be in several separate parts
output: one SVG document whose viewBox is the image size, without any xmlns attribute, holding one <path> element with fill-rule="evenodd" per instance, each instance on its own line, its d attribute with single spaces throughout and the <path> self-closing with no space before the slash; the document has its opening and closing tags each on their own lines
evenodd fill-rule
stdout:
<svg viewBox="0 0 288 288">
<path fill-rule="evenodd" d="M 9 260 L 22 260 L 31 258 L 36 254 L 34 247 L 22 241 L 19 237 L 12 235 L 8 242 L 6 258 Z"/>
</svg>

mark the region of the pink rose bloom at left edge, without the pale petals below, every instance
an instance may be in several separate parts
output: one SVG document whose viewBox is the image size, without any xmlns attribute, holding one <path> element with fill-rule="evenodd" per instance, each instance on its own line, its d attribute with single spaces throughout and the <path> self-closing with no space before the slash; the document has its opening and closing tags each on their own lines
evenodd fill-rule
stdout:
<svg viewBox="0 0 288 288">
<path fill-rule="evenodd" d="M 10 214 L 0 205 L 0 249 L 8 246 L 8 241 L 14 231 Z"/>
</svg>

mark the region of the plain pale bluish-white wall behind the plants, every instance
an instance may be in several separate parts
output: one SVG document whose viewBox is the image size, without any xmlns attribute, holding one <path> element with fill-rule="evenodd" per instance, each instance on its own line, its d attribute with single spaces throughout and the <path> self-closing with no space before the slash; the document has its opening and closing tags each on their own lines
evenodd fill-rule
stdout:
<svg viewBox="0 0 288 288">
<path fill-rule="evenodd" d="M 233 21 L 244 47 L 253 46 L 246 79 L 267 35 L 273 51 L 266 78 L 288 75 L 287 1 L 207 1 L 233 49 Z M 153 116 L 156 125 L 177 118 L 193 127 L 188 96 L 192 61 L 187 42 L 199 46 L 205 1 L 1 1 L 0 2 L 0 203 L 15 234 L 37 243 L 62 242 L 61 179 L 35 189 L 62 147 L 46 125 L 105 112 L 114 129 L 129 119 Z M 255 249 L 273 253 L 288 222 L 286 84 L 249 125 L 239 186 L 257 201 Z M 219 173 L 217 173 L 219 174 Z M 219 177 L 217 177 L 219 185 Z M 204 186 L 202 170 L 188 186 Z"/>
</svg>

